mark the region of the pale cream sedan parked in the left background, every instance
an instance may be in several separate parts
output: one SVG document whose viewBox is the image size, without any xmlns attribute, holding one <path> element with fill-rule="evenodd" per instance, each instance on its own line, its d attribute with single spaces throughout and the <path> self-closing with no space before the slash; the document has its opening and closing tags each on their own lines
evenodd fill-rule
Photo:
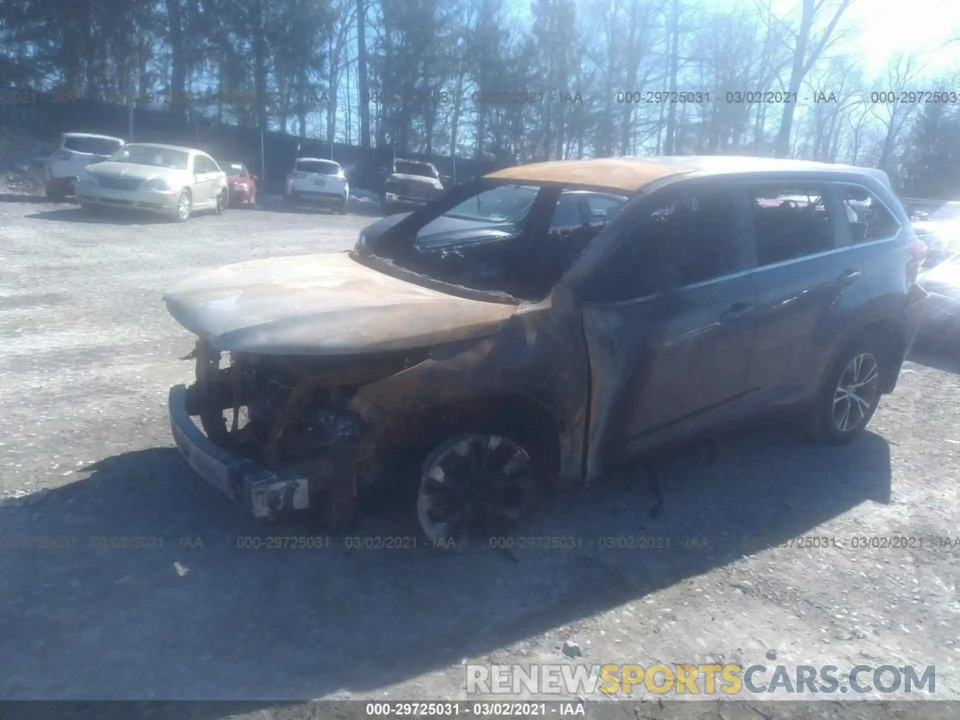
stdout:
<svg viewBox="0 0 960 720">
<path fill-rule="evenodd" d="M 77 202 L 84 210 L 130 207 L 184 222 L 198 210 L 219 215 L 227 208 L 227 174 L 200 150 L 131 143 L 87 167 L 77 181 Z"/>
</svg>

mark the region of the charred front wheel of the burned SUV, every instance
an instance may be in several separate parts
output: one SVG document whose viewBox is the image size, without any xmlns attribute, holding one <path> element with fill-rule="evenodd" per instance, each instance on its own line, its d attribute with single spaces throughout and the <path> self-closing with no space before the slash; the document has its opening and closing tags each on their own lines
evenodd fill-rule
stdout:
<svg viewBox="0 0 960 720">
<path fill-rule="evenodd" d="M 468 435 L 441 445 L 420 479 L 417 516 L 435 545 L 452 540 L 466 548 L 469 536 L 492 537 L 516 522 L 535 488 L 527 452 L 499 435 Z"/>
</svg>

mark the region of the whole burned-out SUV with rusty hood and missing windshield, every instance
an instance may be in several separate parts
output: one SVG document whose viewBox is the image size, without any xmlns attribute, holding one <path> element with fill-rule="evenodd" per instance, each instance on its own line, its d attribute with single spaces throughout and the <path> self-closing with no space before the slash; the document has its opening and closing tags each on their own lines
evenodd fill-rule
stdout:
<svg viewBox="0 0 960 720">
<path fill-rule="evenodd" d="M 868 220 L 847 212 L 866 200 Z M 410 482 L 426 536 L 460 540 L 516 520 L 540 480 L 590 482 L 771 407 L 851 441 L 913 344 L 923 258 L 885 176 L 861 168 L 501 170 L 379 220 L 352 252 L 170 290 L 199 336 L 173 434 L 255 516 L 342 524 L 359 494 Z"/>
</svg>

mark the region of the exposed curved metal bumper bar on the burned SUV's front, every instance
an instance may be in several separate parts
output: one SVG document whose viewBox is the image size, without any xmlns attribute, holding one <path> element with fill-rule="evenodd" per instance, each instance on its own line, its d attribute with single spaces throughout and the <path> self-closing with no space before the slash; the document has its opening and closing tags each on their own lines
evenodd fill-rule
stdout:
<svg viewBox="0 0 960 720">
<path fill-rule="evenodd" d="M 190 467 L 253 516 L 269 517 L 309 508 L 310 484 L 305 468 L 262 468 L 213 444 L 187 413 L 185 386 L 170 388 L 169 414 L 174 442 Z"/>
</svg>

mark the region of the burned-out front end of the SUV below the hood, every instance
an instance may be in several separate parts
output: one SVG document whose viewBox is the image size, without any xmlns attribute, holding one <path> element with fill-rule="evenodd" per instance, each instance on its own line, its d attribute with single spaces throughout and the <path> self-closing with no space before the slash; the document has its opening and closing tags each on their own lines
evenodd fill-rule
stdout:
<svg viewBox="0 0 960 720">
<path fill-rule="evenodd" d="M 372 428 L 349 402 L 365 384 L 422 359 L 414 354 L 220 352 L 201 340 L 188 355 L 196 381 L 170 391 L 174 439 L 192 468 L 253 516 L 318 509 L 342 526 L 373 479 L 364 469 Z"/>
</svg>

